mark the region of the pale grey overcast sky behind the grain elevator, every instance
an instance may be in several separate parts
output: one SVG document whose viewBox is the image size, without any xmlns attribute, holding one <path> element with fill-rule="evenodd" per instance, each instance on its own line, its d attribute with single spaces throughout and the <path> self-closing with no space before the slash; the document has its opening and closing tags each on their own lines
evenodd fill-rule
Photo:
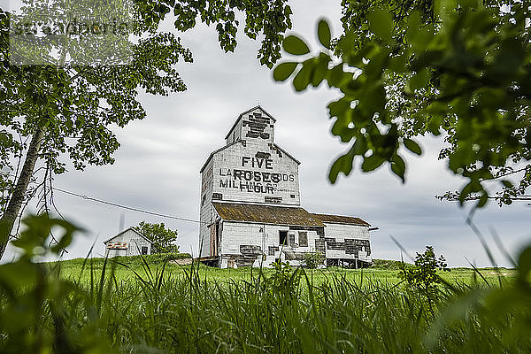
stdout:
<svg viewBox="0 0 531 354">
<path fill-rule="evenodd" d="M 315 45 L 315 25 L 325 17 L 335 35 L 341 30 L 340 1 L 296 1 L 293 32 Z M 168 27 L 173 30 L 173 28 Z M 70 171 L 56 177 L 55 186 L 112 203 L 199 219 L 199 169 L 212 150 L 223 146 L 223 138 L 241 112 L 260 104 L 277 119 L 275 142 L 297 158 L 301 204 L 309 212 L 335 213 L 365 219 L 380 230 L 371 233 L 373 258 L 400 259 L 400 250 L 390 235 L 412 255 L 433 245 L 450 266 L 490 266 L 481 242 L 466 226 L 468 208 L 442 202 L 435 195 L 456 190 L 462 181 L 450 175 L 446 162 L 437 160 L 442 138 L 421 140 L 421 158 L 407 152 L 408 172 L 402 184 L 389 171 L 341 176 L 335 185 L 327 181 L 329 165 L 347 150 L 330 134 L 327 103 L 337 94 L 323 84 L 319 89 L 296 94 L 289 83 L 275 83 L 271 72 L 258 63 L 258 43 L 238 35 L 235 53 L 219 49 L 213 28 L 199 26 L 182 35 L 183 44 L 194 54 L 194 63 L 179 65 L 188 86 L 171 96 L 142 95 L 147 118 L 124 129 L 114 129 L 121 147 L 116 163 L 88 167 L 83 173 Z M 103 240 L 138 222 L 164 222 L 179 230 L 181 251 L 196 255 L 197 224 L 129 212 L 56 192 L 58 209 L 87 232 L 69 249 L 66 258 L 85 257 L 96 241 L 95 255 L 104 253 Z M 516 203 L 499 208 L 495 203 L 477 212 L 474 222 L 486 235 L 499 264 L 508 266 L 492 242 L 494 227 L 511 252 L 530 240 L 531 207 Z M 467 260 L 468 259 L 468 260 Z"/>
</svg>

